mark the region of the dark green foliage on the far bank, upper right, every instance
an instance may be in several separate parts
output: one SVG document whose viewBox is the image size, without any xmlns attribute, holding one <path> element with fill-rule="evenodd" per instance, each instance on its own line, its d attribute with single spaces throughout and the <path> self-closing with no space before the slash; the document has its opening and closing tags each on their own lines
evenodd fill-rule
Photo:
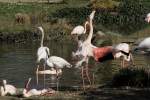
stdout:
<svg viewBox="0 0 150 100">
<path fill-rule="evenodd" d="M 145 27 L 145 16 L 148 13 L 140 0 L 124 0 L 120 2 L 116 12 L 101 11 L 98 13 L 98 23 L 102 23 L 111 30 L 129 34 Z"/>
</svg>

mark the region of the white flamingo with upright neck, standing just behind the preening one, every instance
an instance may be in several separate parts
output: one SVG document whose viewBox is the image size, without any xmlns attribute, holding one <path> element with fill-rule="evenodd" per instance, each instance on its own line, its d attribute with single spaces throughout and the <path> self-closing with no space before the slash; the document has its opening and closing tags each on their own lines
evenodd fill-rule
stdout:
<svg viewBox="0 0 150 100">
<path fill-rule="evenodd" d="M 46 60 L 48 59 L 50 52 L 49 52 L 49 48 L 46 46 L 43 46 L 43 40 L 44 40 L 44 30 L 42 27 L 38 27 L 38 29 L 41 31 L 42 33 L 42 38 L 41 38 L 41 46 L 38 48 L 37 51 L 37 62 L 40 62 L 42 59 L 46 62 Z"/>
</svg>

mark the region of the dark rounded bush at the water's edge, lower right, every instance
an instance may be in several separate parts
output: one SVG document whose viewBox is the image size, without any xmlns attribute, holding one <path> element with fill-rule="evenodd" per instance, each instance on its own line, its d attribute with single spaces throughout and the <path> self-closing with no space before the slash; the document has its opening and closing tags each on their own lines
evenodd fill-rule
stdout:
<svg viewBox="0 0 150 100">
<path fill-rule="evenodd" d="M 149 87 L 149 73 L 144 68 L 126 68 L 114 75 L 112 86 Z"/>
</svg>

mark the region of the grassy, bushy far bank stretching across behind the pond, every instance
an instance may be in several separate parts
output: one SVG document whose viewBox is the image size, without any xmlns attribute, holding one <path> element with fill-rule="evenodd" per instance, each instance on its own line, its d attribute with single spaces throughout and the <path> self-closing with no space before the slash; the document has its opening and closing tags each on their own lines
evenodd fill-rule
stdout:
<svg viewBox="0 0 150 100">
<path fill-rule="evenodd" d="M 127 35 L 143 30 L 148 26 L 144 17 L 149 11 L 147 7 L 150 4 L 145 3 L 145 0 L 137 1 L 119 0 L 117 8 L 107 9 L 107 5 L 105 9 L 101 6 L 96 8 L 94 33 L 101 30 L 106 33 Z M 0 3 L 0 6 L 1 41 L 8 39 L 24 41 L 28 40 L 28 37 L 33 37 L 31 40 L 37 38 L 39 35 L 37 26 L 43 26 L 46 40 L 64 39 L 74 26 L 85 22 L 93 8 L 90 6 L 90 0 L 65 0 L 59 4 Z"/>
</svg>

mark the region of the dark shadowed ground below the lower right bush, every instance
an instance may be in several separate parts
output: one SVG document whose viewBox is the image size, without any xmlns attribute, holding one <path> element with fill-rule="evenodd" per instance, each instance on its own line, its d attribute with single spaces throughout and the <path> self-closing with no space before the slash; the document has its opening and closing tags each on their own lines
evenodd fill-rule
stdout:
<svg viewBox="0 0 150 100">
<path fill-rule="evenodd" d="M 149 94 L 148 88 L 99 88 L 82 95 L 86 100 L 150 100 Z"/>
</svg>

